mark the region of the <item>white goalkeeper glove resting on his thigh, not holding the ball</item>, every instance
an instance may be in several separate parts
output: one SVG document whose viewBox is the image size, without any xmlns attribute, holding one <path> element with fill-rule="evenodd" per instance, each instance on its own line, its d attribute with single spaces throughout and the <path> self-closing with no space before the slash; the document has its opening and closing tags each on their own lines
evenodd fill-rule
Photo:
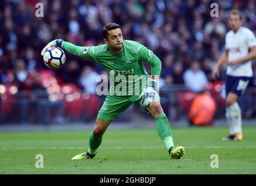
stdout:
<svg viewBox="0 0 256 186">
<path fill-rule="evenodd" d="M 157 81 L 151 80 L 149 81 L 149 87 L 145 88 L 141 93 L 141 104 L 144 106 L 148 106 L 153 101 L 156 101 L 159 96 L 156 92 L 157 90 Z"/>
</svg>

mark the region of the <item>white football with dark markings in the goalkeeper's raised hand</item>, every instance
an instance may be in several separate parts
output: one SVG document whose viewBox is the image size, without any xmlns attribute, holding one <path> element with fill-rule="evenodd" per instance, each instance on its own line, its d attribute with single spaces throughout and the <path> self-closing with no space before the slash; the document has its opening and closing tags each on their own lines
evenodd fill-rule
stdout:
<svg viewBox="0 0 256 186">
<path fill-rule="evenodd" d="M 59 47 L 51 47 L 44 53 L 44 64 L 51 69 L 58 69 L 64 65 L 66 55 Z"/>
</svg>

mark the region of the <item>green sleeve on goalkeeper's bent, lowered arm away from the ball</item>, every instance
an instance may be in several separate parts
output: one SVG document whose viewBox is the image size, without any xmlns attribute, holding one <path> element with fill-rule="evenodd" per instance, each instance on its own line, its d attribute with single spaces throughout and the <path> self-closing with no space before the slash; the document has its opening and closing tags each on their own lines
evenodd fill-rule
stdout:
<svg viewBox="0 0 256 186">
<path fill-rule="evenodd" d="M 145 46 L 141 45 L 138 48 L 139 60 L 149 63 L 151 66 L 151 75 L 160 76 L 162 62 L 157 56 Z"/>
</svg>

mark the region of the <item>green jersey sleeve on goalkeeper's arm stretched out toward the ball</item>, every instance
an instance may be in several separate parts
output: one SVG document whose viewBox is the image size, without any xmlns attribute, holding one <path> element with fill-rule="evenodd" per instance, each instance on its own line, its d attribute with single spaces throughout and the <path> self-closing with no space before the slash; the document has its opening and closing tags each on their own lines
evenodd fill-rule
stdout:
<svg viewBox="0 0 256 186">
<path fill-rule="evenodd" d="M 95 60 L 94 50 L 96 47 L 79 47 L 70 42 L 64 42 L 63 48 L 69 53 L 82 58 L 90 58 Z"/>
</svg>

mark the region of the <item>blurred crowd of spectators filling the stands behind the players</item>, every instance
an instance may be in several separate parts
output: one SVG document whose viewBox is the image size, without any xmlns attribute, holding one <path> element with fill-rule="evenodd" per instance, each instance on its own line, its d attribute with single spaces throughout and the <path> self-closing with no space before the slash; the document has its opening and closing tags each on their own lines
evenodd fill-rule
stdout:
<svg viewBox="0 0 256 186">
<path fill-rule="evenodd" d="M 44 5 L 44 17 L 35 15 L 38 2 Z M 218 3 L 218 17 L 211 17 L 211 3 Z M 39 83 L 30 82 L 29 74 L 47 69 L 40 56 L 45 44 L 55 38 L 82 46 L 102 44 L 101 28 L 115 22 L 121 25 L 125 40 L 140 42 L 162 60 L 161 86 L 184 84 L 199 92 L 213 81 L 211 71 L 224 50 L 229 30 L 227 15 L 233 8 L 242 11 L 243 25 L 256 35 L 253 0 L 3 0 L 0 1 L 0 84 L 17 83 L 18 91 L 41 88 Z M 95 77 L 105 73 L 102 67 L 89 59 L 67 52 L 66 55 L 63 69 L 52 70 L 57 79 L 95 94 Z M 256 86 L 253 64 L 251 87 Z M 221 74 L 219 80 L 224 80 L 224 67 Z"/>
</svg>

